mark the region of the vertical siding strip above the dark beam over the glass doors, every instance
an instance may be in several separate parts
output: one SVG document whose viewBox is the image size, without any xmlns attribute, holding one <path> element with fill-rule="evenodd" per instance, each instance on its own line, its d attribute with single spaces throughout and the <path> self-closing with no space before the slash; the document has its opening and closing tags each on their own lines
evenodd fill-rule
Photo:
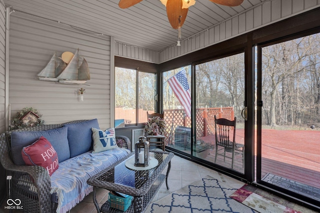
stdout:
<svg viewBox="0 0 320 213">
<path fill-rule="evenodd" d="M 181 46 L 169 46 L 159 53 L 159 63 L 230 39 L 262 26 L 320 6 L 320 0 L 271 0 L 223 21 L 181 41 Z M 182 26 L 183 33 L 183 26 Z"/>
</svg>

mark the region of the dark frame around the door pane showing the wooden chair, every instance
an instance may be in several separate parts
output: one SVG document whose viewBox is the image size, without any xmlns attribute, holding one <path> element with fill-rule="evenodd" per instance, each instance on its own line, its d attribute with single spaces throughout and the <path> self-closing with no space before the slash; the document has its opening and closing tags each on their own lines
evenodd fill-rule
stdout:
<svg viewBox="0 0 320 213">
<path fill-rule="evenodd" d="M 251 34 L 250 34 L 251 36 Z M 222 57 L 227 57 L 230 55 L 234 55 L 237 53 L 244 53 L 244 74 L 245 74 L 245 87 L 244 87 L 244 106 L 247 107 L 247 115 L 248 119 L 247 121 L 244 122 L 244 140 L 245 140 L 245 152 L 244 152 L 244 174 L 241 174 L 239 172 L 236 172 L 234 170 L 219 166 L 217 164 L 213 164 L 211 162 L 205 161 L 204 159 L 199 159 L 196 158 L 192 155 L 192 149 L 190 154 L 175 150 L 170 147 L 166 147 L 168 150 L 174 152 L 175 154 L 187 158 L 188 160 L 194 161 L 196 163 L 199 163 L 203 166 L 206 166 L 208 168 L 212 168 L 214 170 L 217 170 L 221 173 L 227 174 L 229 176 L 232 176 L 236 179 L 239 179 L 244 182 L 249 182 L 251 183 L 253 181 L 253 172 L 254 172 L 254 153 L 253 153 L 253 144 L 254 144 L 254 72 L 252 71 L 252 64 L 254 63 L 252 60 L 252 45 L 249 43 L 246 43 L 246 36 L 245 38 L 240 37 L 240 38 L 235 38 L 233 39 L 233 42 L 228 41 L 228 45 L 224 45 L 225 48 L 221 49 L 221 51 L 216 51 L 216 48 L 210 47 L 210 51 L 212 49 L 215 49 L 214 53 L 212 54 L 211 57 L 206 57 L 206 59 L 198 60 L 193 63 L 191 63 L 191 147 L 193 142 L 195 141 L 195 65 L 208 62 L 211 60 L 219 59 Z M 245 41 L 244 43 L 241 43 Z M 234 44 L 234 45 L 232 45 Z M 219 44 L 221 45 L 221 44 Z M 229 48 L 226 48 L 229 46 Z M 208 51 L 206 52 L 208 53 Z M 207 54 L 210 55 L 210 54 Z M 180 67 L 182 67 L 181 65 Z M 185 65 L 184 65 L 185 66 Z M 178 68 L 178 67 L 174 67 Z M 172 68 L 172 69 L 174 69 Z M 162 76 L 162 75 L 161 75 Z"/>
</svg>

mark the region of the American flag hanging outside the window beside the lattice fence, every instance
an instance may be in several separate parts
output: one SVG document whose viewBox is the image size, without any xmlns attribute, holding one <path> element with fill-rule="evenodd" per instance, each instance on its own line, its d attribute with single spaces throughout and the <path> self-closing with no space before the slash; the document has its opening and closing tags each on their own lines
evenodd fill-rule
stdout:
<svg viewBox="0 0 320 213">
<path fill-rule="evenodd" d="M 174 76 L 167 80 L 174 95 L 179 100 L 180 104 L 184 107 L 185 113 L 188 117 L 191 116 L 191 94 L 189 89 L 188 80 L 185 75 L 185 69 L 182 69 Z"/>
</svg>

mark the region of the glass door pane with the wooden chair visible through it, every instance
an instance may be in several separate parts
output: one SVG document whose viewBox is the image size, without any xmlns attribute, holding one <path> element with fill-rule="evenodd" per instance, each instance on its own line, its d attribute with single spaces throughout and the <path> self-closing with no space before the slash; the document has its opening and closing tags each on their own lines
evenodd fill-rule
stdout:
<svg viewBox="0 0 320 213">
<path fill-rule="evenodd" d="M 195 65 L 195 143 L 194 157 L 211 164 L 244 173 L 244 53 L 222 57 Z M 244 112 L 243 112 L 244 113 Z M 236 120 L 236 126 L 224 129 L 229 144 L 218 146 L 216 119 Z M 216 133 L 215 133 L 216 132 Z M 235 141 L 233 134 L 235 133 Z M 232 142 L 236 146 L 232 146 Z"/>
</svg>

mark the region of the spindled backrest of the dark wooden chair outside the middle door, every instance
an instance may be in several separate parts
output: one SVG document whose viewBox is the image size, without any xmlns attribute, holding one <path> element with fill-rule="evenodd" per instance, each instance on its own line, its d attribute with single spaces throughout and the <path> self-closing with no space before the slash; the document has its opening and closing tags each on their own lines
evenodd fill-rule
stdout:
<svg viewBox="0 0 320 213">
<path fill-rule="evenodd" d="M 230 121 L 225 118 L 216 118 L 216 116 L 214 115 L 215 144 L 219 144 L 220 146 L 224 147 L 234 147 L 235 124 L 236 117 L 234 117 L 233 121 Z M 230 136 L 232 137 L 232 139 L 230 139 Z"/>
</svg>

